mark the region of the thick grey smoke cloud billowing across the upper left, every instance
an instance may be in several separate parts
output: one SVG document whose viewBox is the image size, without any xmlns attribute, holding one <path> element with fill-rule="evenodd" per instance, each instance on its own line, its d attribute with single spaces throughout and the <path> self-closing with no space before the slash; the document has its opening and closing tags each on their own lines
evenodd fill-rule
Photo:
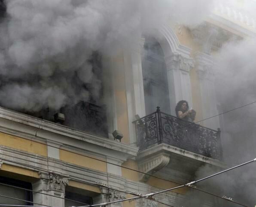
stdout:
<svg viewBox="0 0 256 207">
<path fill-rule="evenodd" d="M 100 99 L 101 79 L 91 64 L 93 53 L 116 54 L 169 19 L 198 24 L 211 8 L 204 0 L 5 3 L 7 14 L 0 25 L 0 101 L 29 111 L 58 109 L 90 96 Z"/>
</svg>

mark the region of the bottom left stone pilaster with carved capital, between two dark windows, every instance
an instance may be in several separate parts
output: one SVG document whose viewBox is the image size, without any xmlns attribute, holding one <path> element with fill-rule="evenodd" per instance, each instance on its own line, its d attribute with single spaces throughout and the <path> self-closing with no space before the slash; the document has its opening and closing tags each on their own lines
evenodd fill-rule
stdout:
<svg viewBox="0 0 256 207">
<path fill-rule="evenodd" d="M 33 190 L 44 194 L 34 192 L 34 201 L 52 207 L 64 207 L 65 186 L 68 185 L 68 176 L 53 172 L 40 172 L 39 175 L 40 180 L 32 184 Z"/>
</svg>

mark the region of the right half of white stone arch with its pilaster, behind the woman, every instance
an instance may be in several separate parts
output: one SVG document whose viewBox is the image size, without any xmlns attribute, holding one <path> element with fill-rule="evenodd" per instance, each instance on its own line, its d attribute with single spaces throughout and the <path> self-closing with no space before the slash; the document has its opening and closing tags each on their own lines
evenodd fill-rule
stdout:
<svg viewBox="0 0 256 207">
<path fill-rule="evenodd" d="M 168 25 L 163 25 L 153 36 L 164 52 L 168 76 L 171 114 L 175 116 L 175 106 L 179 100 L 187 100 L 192 107 L 189 71 L 193 67 L 191 49 L 180 44 L 176 34 Z"/>
</svg>

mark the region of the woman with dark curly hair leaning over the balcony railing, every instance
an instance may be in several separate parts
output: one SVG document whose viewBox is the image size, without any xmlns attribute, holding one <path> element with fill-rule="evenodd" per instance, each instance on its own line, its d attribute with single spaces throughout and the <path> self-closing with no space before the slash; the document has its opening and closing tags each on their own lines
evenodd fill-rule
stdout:
<svg viewBox="0 0 256 207">
<path fill-rule="evenodd" d="M 176 116 L 182 120 L 194 122 L 195 110 L 189 110 L 189 104 L 186 100 L 180 100 L 175 107 Z"/>
</svg>

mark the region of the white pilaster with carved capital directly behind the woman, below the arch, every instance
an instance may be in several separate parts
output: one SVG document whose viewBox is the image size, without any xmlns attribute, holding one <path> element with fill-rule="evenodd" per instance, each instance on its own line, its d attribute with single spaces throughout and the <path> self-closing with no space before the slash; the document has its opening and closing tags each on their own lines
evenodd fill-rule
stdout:
<svg viewBox="0 0 256 207">
<path fill-rule="evenodd" d="M 176 116 L 175 107 L 178 101 L 187 100 L 192 107 L 192 94 L 189 72 L 194 67 L 193 59 L 173 53 L 165 57 L 168 87 L 171 102 L 171 115 Z"/>
</svg>

